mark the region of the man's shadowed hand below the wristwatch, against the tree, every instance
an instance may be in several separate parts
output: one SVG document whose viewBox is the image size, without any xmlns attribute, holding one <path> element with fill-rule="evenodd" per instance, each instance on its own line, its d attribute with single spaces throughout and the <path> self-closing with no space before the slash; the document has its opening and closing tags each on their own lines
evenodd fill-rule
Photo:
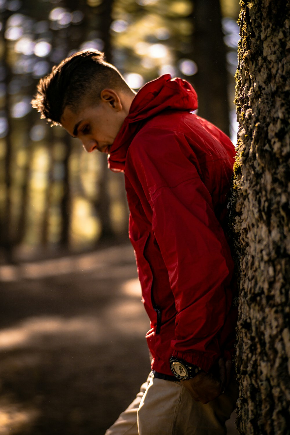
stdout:
<svg viewBox="0 0 290 435">
<path fill-rule="evenodd" d="M 223 393 L 223 387 L 227 387 L 230 380 L 231 361 L 226 364 L 223 358 L 219 359 L 219 378 L 213 373 L 199 373 L 192 379 L 182 381 L 181 385 L 189 391 L 191 397 L 196 402 L 208 403 Z"/>
</svg>

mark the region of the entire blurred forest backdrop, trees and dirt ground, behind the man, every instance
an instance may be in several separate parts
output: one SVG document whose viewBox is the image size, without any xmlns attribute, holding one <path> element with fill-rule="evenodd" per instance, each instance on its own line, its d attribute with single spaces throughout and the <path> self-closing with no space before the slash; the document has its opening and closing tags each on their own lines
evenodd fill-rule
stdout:
<svg viewBox="0 0 290 435">
<path fill-rule="evenodd" d="M 123 174 L 40 119 L 37 81 L 104 50 L 136 91 L 160 74 L 188 80 L 198 114 L 236 144 L 239 9 L 0 0 L 0 435 L 103 434 L 150 371 Z"/>
</svg>

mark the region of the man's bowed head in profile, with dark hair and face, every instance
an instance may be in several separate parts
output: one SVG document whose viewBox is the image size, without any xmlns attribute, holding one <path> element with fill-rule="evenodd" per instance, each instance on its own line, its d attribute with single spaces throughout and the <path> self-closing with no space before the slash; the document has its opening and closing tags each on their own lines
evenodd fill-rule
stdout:
<svg viewBox="0 0 290 435">
<path fill-rule="evenodd" d="M 32 105 L 41 118 L 79 137 L 87 151 L 108 152 L 133 97 L 103 53 L 83 51 L 63 60 L 39 81 Z"/>
</svg>

